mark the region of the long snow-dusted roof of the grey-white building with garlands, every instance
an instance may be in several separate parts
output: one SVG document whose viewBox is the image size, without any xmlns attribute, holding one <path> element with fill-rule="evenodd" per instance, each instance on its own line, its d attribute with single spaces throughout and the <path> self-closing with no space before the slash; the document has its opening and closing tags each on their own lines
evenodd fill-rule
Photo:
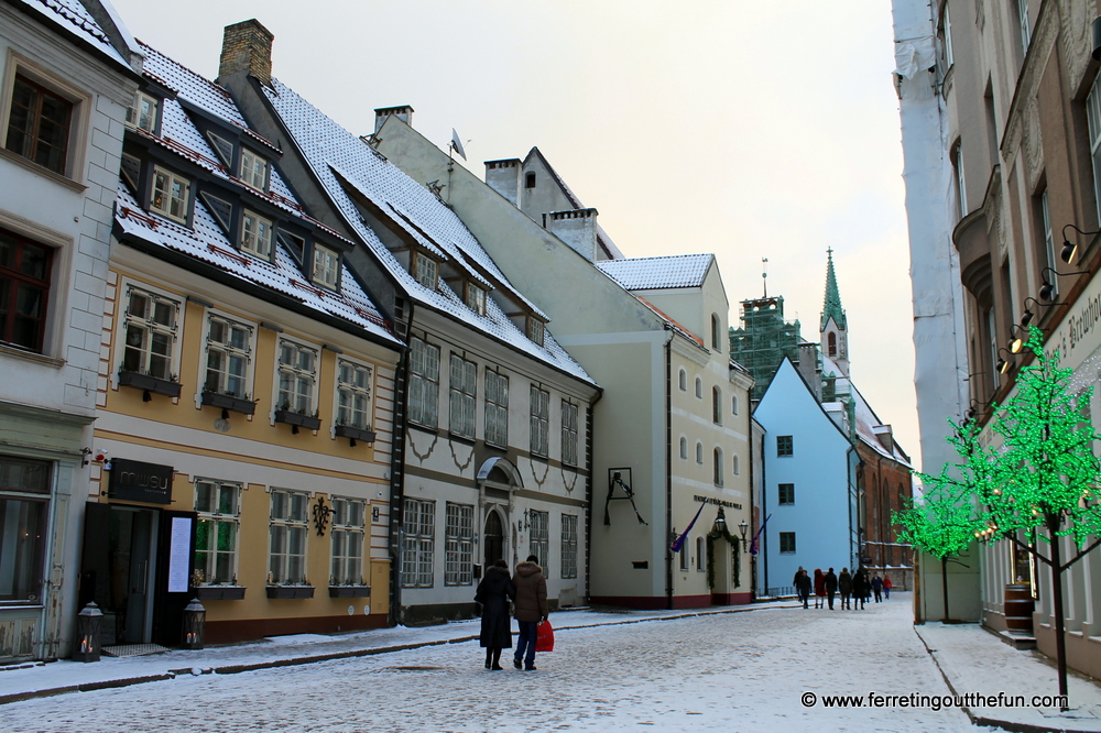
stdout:
<svg viewBox="0 0 1101 733">
<path fill-rule="evenodd" d="M 524 304 L 539 318 L 549 320 L 509 283 L 475 236 L 432 192 L 279 79 L 273 78 L 272 88 L 264 87 L 264 92 L 348 226 L 411 299 L 446 313 L 560 371 L 595 383 L 581 365 L 554 341 L 549 330 L 545 332 L 544 346 L 532 342 L 492 297 L 487 298 L 486 315 L 482 316 L 467 307 L 443 277 L 435 288 L 417 282 L 363 221 L 357 199 L 360 204 L 364 200 L 370 203 L 380 216 L 389 217 L 395 227 L 407 232 L 418 244 L 453 263 L 471 278 L 508 293 L 509 299 Z"/>
</svg>

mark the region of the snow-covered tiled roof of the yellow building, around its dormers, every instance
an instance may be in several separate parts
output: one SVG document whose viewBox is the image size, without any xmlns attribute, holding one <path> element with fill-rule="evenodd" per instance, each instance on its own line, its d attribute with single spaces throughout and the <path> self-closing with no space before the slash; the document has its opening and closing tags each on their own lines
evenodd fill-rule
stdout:
<svg viewBox="0 0 1101 733">
<path fill-rule="evenodd" d="M 143 45 L 142 51 L 146 54 L 145 68 L 152 78 L 159 79 L 162 84 L 168 83 L 170 88 L 179 92 L 182 99 L 186 95 L 186 101 L 190 105 L 203 106 L 212 102 L 214 110 L 205 107 L 204 109 L 236 124 L 244 124 L 244 118 L 232 100 L 227 101 L 228 96 L 224 96 L 225 90 L 221 87 L 188 72 L 149 46 Z M 173 83 L 181 88 L 173 86 Z M 150 139 L 165 150 L 200 165 L 229 185 L 239 186 L 251 195 L 266 199 L 292 217 L 308 222 L 307 226 L 316 226 L 313 219 L 305 216 L 302 206 L 293 198 L 290 188 L 274 166 L 271 168 L 273 190 L 271 195 L 248 188 L 243 182 L 231 176 L 218 161 L 217 153 L 210 147 L 209 142 L 195 127 L 179 99 L 163 100 L 160 136 L 138 129 L 128 128 L 128 132 Z M 340 291 L 333 292 L 309 284 L 294 256 L 277 240 L 272 262 L 241 253 L 207 208 L 201 196 L 195 198 L 192 226 L 185 227 L 155 212 L 142 210 L 131 192 L 120 182 L 115 220 L 123 237 L 189 255 L 241 281 L 282 293 L 314 310 L 359 326 L 374 337 L 395 344 L 400 343 L 390 332 L 370 296 L 347 267 L 341 272 Z M 330 236 L 336 236 L 331 230 L 327 231 Z"/>
</svg>

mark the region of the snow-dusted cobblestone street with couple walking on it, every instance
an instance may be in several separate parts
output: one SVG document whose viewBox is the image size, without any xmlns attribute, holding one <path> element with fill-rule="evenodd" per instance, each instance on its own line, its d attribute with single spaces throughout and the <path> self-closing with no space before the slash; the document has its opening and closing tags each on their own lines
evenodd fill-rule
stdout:
<svg viewBox="0 0 1101 733">
<path fill-rule="evenodd" d="M 552 621 L 577 625 L 588 615 L 556 614 Z M 416 630 L 416 635 L 430 633 Z M 948 693 L 914 634 L 908 594 L 865 611 L 772 608 L 563 626 L 556 636 L 555 652 L 539 655 L 533 672 L 513 670 L 508 656 L 505 671 L 490 672 L 482 668 L 477 642 L 443 644 L 34 699 L 4 705 L 4 729 L 978 730 L 956 708 L 836 710 L 822 704 L 828 694 Z M 817 704 L 803 704 L 806 692 L 818 696 Z"/>
</svg>

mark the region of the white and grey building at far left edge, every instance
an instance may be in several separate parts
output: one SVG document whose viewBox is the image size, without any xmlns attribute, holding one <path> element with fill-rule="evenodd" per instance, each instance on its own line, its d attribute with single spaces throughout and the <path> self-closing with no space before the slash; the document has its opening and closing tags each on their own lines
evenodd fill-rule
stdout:
<svg viewBox="0 0 1101 733">
<path fill-rule="evenodd" d="M 0 663 L 73 649 L 111 207 L 140 70 L 107 2 L 0 2 Z"/>
</svg>

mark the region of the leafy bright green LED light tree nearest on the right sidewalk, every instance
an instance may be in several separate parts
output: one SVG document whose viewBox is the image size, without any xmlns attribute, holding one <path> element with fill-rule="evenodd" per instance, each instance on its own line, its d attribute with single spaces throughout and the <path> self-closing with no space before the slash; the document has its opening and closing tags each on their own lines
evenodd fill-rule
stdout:
<svg viewBox="0 0 1101 733">
<path fill-rule="evenodd" d="M 1071 370 L 1059 366 L 1058 351 L 1044 352 L 1042 337 L 1039 329 L 1029 329 L 1026 348 L 1036 360 L 1021 370 L 1016 394 L 994 413 L 992 429 L 1003 447 L 985 455 L 991 472 L 975 485 L 985 525 L 980 539 L 1004 537 L 1050 569 L 1059 694 L 1066 694 L 1062 573 L 1101 544 L 1097 539 L 1101 535 L 1101 462 L 1093 455 L 1101 435 L 1090 423 L 1093 387 L 1071 394 Z M 1046 543 L 1048 556 L 1036 544 L 1022 541 L 1022 533 Z M 1062 537 L 1072 538 L 1077 550 L 1066 561 Z"/>
</svg>

